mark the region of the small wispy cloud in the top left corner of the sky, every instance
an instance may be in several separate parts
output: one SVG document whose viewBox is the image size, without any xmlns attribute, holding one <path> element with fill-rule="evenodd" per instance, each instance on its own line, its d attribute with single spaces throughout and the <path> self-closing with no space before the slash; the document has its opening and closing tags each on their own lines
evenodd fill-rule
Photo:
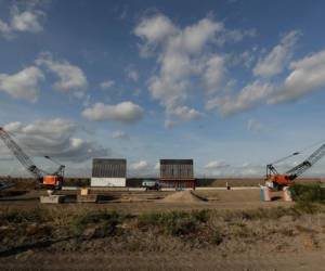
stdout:
<svg viewBox="0 0 325 271">
<path fill-rule="evenodd" d="M 0 18 L 0 33 L 5 38 L 14 37 L 15 33 L 40 33 L 43 30 L 43 21 L 46 13 L 35 5 L 27 4 L 25 10 L 18 9 L 13 5 L 10 12 L 10 22 L 5 23 Z"/>
</svg>

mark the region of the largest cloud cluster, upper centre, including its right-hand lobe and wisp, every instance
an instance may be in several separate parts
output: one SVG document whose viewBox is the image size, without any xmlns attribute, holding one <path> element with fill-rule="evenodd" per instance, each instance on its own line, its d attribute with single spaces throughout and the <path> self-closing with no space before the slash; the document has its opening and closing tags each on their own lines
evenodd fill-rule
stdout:
<svg viewBox="0 0 325 271">
<path fill-rule="evenodd" d="M 194 91 L 194 77 L 202 78 L 209 92 L 218 91 L 226 68 L 223 56 L 211 53 L 210 47 L 221 37 L 235 41 L 246 36 L 239 30 L 231 34 L 212 17 L 182 28 L 162 14 L 142 18 L 134 34 L 142 40 L 141 52 L 156 56 L 158 72 L 150 78 L 148 90 L 167 114 L 186 106 Z"/>
</svg>

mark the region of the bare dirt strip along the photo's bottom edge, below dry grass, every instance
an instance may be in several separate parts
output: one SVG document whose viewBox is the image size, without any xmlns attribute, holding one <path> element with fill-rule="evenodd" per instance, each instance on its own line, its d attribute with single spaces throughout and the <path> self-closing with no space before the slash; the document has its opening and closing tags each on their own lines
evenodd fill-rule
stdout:
<svg viewBox="0 0 325 271">
<path fill-rule="evenodd" d="M 28 256 L 29 254 L 29 256 Z M 222 257 L 214 250 L 191 253 L 49 254 L 1 259 L 1 270 L 324 270 L 322 251 L 259 255 L 258 251 Z"/>
</svg>

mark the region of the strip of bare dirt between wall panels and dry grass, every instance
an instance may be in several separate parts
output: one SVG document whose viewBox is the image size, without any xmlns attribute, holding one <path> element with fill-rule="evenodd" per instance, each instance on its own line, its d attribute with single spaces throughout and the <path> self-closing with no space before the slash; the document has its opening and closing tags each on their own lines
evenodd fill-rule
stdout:
<svg viewBox="0 0 325 271">
<path fill-rule="evenodd" d="M 18 194 L 18 195 L 15 195 Z M 170 209 L 178 210 L 193 210 L 193 209 L 249 209 L 249 208 L 270 208 L 276 206 L 290 206 L 291 203 L 283 202 L 277 198 L 278 194 L 274 194 L 277 201 L 272 203 L 265 203 L 260 201 L 259 190 L 219 190 L 209 191 L 200 190 L 195 191 L 195 194 L 206 198 L 207 201 L 200 202 L 171 202 L 166 203 L 162 199 L 176 192 L 101 192 L 102 195 L 98 204 L 84 204 L 82 206 L 88 208 L 107 208 L 112 210 L 119 210 L 129 214 L 141 214 L 150 211 L 164 211 Z M 46 195 L 46 191 L 15 191 L 10 190 L 2 192 L 0 196 L 0 208 L 18 206 L 21 208 L 34 208 L 41 206 L 39 203 L 39 196 Z M 64 208 L 74 208 L 76 205 L 76 191 L 62 191 L 60 194 L 67 195 L 67 203 L 61 205 Z M 80 205 L 80 204 L 77 204 Z M 56 206 L 50 205 L 49 208 L 56 208 Z"/>
</svg>

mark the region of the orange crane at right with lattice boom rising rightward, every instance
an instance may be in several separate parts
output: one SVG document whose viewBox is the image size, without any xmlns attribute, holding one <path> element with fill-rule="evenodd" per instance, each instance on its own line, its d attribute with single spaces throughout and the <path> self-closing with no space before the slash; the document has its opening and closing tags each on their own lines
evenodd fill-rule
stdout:
<svg viewBox="0 0 325 271">
<path fill-rule="evenodd" d="M 300 152 L 292 153 L 289 156 L 281 158 L 272 164 L 266 165 L 265 185 L 274 190 L 283 190 L 284 186 L 290 185 L 294 180 L 302 175 L 306 170 L 310 169 L 316 162 L 325 155 L 325 144 L 322 144 L 315 152 L 313 152 L 307 159 L 299 165 L 295 166 L 285 173 L 278 173 L 275 164 L 284 162 L 292 156 L 299 155 Z"/>
</svg>

